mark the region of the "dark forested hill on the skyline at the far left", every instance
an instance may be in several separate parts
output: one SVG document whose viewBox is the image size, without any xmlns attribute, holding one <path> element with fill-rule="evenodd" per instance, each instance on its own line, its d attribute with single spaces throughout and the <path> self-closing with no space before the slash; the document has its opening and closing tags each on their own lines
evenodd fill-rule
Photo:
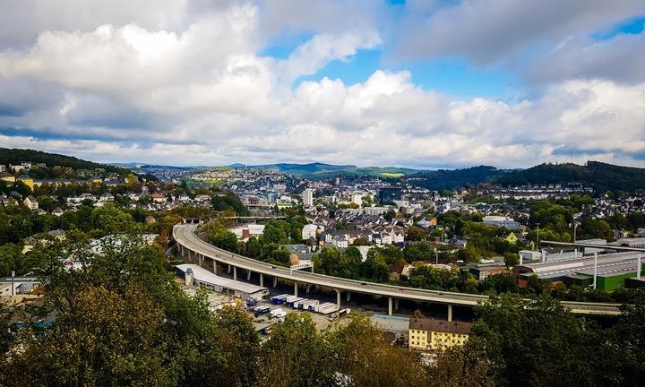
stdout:
<svg viewBox="0 0 645 387">
<path fill-rule="evenodd" d="M 0 165 L 20 164 L 22 161 L 32 163 L 46 163 L 47 167 L 61 166 L 73 169 L 94 169 L 103 168 L 107 172 L 128 173 L 125 168 L 118 168 L 107 164 L 99 164 L 83 159 L 76 159 L 71 156 L 64 156 L 56 153 L 47 153 L 40 150 L 22 150 L 0 148 Z"/>
</svg>

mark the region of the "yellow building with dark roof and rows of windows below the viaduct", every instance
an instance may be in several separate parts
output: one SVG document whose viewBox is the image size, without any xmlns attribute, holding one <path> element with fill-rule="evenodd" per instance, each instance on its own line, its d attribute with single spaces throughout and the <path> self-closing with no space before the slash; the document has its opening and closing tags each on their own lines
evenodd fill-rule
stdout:
<svg viewBox="0 0 645 387">
<path fill-rule="evenodd" d="M 410 318 L 409 348 L 445 350 L 463 345 L 469 338 L 471 323 L 446 322 L 434 319 Z"/>
</svg>

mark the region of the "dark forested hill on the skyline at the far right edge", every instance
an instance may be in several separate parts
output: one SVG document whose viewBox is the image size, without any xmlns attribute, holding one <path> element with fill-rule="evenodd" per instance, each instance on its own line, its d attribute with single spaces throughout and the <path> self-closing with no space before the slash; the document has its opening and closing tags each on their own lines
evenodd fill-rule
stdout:
<svg viewBox="0 0 645 387">
<path fill-rule="evenodd" d="M 636 191 L 645 189 L 645 169 L 621 167 L 598 161 L 587 165 L 540 164 L 536 167 L 516 171 L 495 179 L 500 185 L 562 184 L 581 183 L 592 186 L 597 192 Z"/>
</svg>

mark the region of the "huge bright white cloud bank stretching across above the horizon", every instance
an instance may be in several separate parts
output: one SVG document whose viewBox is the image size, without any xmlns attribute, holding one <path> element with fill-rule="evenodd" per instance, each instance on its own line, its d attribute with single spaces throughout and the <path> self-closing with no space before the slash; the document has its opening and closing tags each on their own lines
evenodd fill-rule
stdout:
<svg viewBox="0 0 645 387">
<path fill-rule="evenodd" d="M 383 38 L 325 13 L 312 22 L 323 30 L 287 59 L 260 56 L 261 35 L 280 25 L 262 12 L 277 7 L 271 18 L 278 18 L 288 5 L 300 6 L 224 4 L 197 14 L 188 4 L 181 22 L 101 20 L 87 30 L 44 30 L 29 46 L 0 50 L 0 142 L 167 164 L 525 167 L 572 156 L 645 163 L 642 80 L 565 75 L 514 103 L 423 90 L 405 71 L 376 71 L 355 84 L 305 81 L 292 90 L 299 76 L 351 60 Z M 306 24 L 285 20 L 294 29 Z M 12 135 L 2 134 L 6 128 Z"/>
</svg>

